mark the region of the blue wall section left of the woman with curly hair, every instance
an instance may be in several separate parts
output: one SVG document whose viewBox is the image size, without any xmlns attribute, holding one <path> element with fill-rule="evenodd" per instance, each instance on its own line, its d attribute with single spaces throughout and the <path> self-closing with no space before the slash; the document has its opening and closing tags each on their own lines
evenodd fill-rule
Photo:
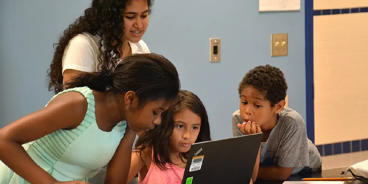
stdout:
<svg viewBox="0 0 368 184">
<path fill-rule="evenodd" d="M 59 34 L 90 0 L 0 1 L 0 127 L 52 98 L 46 70 Z"/>
</svg>

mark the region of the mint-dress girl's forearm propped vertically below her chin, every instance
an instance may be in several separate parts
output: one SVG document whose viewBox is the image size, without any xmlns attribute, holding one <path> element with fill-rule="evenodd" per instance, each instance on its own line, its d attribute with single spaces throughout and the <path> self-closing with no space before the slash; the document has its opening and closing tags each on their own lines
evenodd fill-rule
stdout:
<svg viewBox="0 0 368 184">
<path fill-rule="evenodd" d="M 137 132 L 132 131 L 128 126 L 125 129 L 123 139 L 121 139 L 113 158 L 107 166 L 105 184 L 127 183 L 132 158 L 132 147 Z"/>
</svg>

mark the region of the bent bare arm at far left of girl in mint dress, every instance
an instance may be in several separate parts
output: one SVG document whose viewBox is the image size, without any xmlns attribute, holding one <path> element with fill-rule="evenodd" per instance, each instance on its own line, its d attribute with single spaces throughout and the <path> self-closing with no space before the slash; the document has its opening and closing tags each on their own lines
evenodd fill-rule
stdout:
<svg viewBox="0 0 368 184">
<path fill-rule="evenodd" d="M 0 160 L 29 183 L 57 183 L 49 173 L 33 162 L 22 144 L 63 128 L 77 127 L 86 110 L 87 101 L 81 93 L 67 92 L 51 100 L 43 109 L 1 128 Z"/>
</svg>

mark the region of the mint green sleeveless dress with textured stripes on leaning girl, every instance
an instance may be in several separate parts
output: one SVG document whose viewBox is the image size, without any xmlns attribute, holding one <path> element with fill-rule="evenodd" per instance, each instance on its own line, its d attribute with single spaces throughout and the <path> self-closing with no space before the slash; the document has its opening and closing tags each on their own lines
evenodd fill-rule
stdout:
<svg viewBox="0 0 368 184">
<path fill-rule="evenodd" d="M 70 91 L 80 92 L 87 99 L 87 111 L 81 124 L 73 130 L 58 130 L 22 146 L 33 161 L 56 180 L 88 181 L 89 171 L 99 169 L 111 160 L 127 123 L 118 123 L 111 132 L 100 130 L 96 124 L 95 98 L 91 89 L 67 89 L 53 98 Z M 0 162 L 0 184 L 29 183 Z"/>
</svg>

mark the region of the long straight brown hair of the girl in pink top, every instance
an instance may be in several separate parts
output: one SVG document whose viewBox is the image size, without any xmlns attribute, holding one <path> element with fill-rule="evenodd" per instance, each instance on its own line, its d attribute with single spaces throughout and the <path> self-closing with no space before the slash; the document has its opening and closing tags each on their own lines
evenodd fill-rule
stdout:
<svg viewBox="0 0 368 184">
<path fill-rule="evenodd" d="M 185 109 L 189 109 L 201 117 L 201 128 L 195 142 L 211 141 L 207 111 L 202 101 L 194 93 L 180 90 L 169 109 L 161 114 L 161 124 L 139 136 L 135 143 L 134 152 L 141 155 L 146 148 L 152 148 L 152 162 L 161 170 L 170 169 L 167 168 L 167 165 L 174 165 L 170 158 L 170 138 L 175 127 L 174 116 Z M 185 163 L 184 159 L 188 159 L 188 152 L 181 153 L 180 159 Z"/>
</svg>

